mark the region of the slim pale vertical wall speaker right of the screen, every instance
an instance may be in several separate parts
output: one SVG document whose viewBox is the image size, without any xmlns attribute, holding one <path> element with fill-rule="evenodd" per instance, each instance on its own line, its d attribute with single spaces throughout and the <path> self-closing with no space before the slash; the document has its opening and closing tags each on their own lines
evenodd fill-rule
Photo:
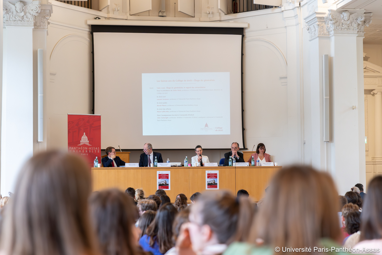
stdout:
<svg viewBox="0 0 382 255">
<path fill-rule="evenodd" d="M 329 55 L 322 56 L 324 78 L 324 142 L 329 142 Z"/>
</svg>

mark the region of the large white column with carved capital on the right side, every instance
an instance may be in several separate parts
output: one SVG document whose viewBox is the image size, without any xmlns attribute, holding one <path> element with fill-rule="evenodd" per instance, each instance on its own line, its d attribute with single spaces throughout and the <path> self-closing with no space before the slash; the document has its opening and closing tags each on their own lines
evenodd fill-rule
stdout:
<svg viewBox="0 0 382 255">
<path fill-rule="evenodd" d="M 360 59 L 357 57 L 357 36 L 358 32 L 363 33 L 364 26 L 371 23 L 371 18 L 365 19 L 364 10 L 338 9 L 329 10 L 325 23 L 330 36 L 331 60 L 331 171 L 338 192 L 343 195 L 349 190 L 349 185 L 359 182 L 359 164 L 365 157 L 364 154 L 359 155 L 359 126 L 364 125 L 364 118 L 359 114 L 364 113 L 358 111 L 363 107 L 358 105 L 357 61 Z"/>
</svg>

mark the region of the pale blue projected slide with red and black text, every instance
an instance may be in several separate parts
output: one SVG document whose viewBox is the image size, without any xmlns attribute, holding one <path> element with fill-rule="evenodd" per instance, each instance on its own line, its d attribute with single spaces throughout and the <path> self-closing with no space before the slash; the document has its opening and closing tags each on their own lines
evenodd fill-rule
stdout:
<svg viewBox="0 0 382 255">
<path fill-rule="evenodd" d="M 230 135 L 230 73 L 142 73 L 142 124 L 143 135 Z"/>
</svg>

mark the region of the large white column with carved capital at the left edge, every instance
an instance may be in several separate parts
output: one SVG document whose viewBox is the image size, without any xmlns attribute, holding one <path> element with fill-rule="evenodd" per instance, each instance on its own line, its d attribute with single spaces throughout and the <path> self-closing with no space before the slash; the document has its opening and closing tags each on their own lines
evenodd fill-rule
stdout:
<svg viewBox="0 0 382 255">
<path fill-rule="evenodd" d="M 24 6 L 27 6 L 24 11 Z M 40 1 L 3 3 L 1 194 L 13 192 L 19 169 L 33 153 L 33 36 Z"/>
</svg>

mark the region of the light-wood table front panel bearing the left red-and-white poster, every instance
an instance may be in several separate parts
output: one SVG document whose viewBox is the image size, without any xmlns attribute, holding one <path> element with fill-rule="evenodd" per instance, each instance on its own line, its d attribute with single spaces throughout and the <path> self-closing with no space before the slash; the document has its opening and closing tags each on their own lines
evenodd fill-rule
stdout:
<svg viewBox="0 0 382 255">
<path fill-rule="evenodd" d="M 166 190 L 171 203 L 178 194 L 183 193 L 189 198 L 189 167 L 142 167 L 142 188 L 145 196 L 157 191 L 157 171 L 170 171 L 171 189 Z"/>
</svg>

